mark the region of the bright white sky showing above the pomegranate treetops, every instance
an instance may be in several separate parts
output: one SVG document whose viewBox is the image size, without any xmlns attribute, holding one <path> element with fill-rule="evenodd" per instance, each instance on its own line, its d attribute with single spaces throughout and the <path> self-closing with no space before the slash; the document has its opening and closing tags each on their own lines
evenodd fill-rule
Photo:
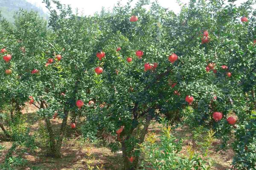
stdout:
<svg viewBox="0 0 256 170">
<path fill-rule="evenodd" d="M 45 12 L 47 9 L 45 8 L 45 4 L 42 3 L 42 0 L 27 0 L 28 2 L 35 4 L 43 8 Z M 154 1 L 154 0 L 151 0 Z M 182 3 L 188 3 L 189 0 L 180 0 Z M 245 2 L 246 0 L 237 0 L 236 3 L 240 4 Z M 105 9 L 112 9 L 113 6 L 118 2 L 118 0 L 60 0 L 63 4 L 70 4 L 73 10 L 76 8 L 79 9 L 79 13 L 84 15 L 93 15 L 96 11 L 101 11 L 102 6 Z M 121 0 L 122 4 L 126 4 L 128 0 Z M 137 0 L 134 0 L 132 4 L 135 4 Z M 180 11 L 180 6 L 177 3 L 177 0 L 158 0 L 161 6 L 165 8 L 169 8 L 174 11 L 176 14 Z M 256 6 L 255 6 L 256 7 Z"/>
</svg>

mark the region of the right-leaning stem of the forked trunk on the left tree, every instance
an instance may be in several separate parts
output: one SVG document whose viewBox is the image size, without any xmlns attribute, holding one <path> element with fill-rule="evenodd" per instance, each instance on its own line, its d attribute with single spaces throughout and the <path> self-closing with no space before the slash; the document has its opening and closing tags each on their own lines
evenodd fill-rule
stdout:
<svg viewBox="0 0 256 170">
<path fill-rule="evenodd" d="M 65 117 L 62 120 L 60 134 L 58 136 L 57 143 L 56 143 L 56 156 L 61 155 L 61 144 L 62 144 L 63 136 L 67 127 L 68 111 L 65 108 L 64 108 L 64 115 Z"/>
</svg>

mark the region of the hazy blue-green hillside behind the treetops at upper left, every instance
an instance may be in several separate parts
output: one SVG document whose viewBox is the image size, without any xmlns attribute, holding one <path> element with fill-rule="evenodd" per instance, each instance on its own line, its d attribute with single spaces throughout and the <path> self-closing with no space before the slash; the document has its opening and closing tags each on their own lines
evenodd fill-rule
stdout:
<svg viewBox="0 0 256 170">
<path fill-rule="evenodd" d="M 26 9 L 28 11 L 38 11 L 38 13 L 47 19 L 47 14 L 41 8 L 27 2 L 26 0 L 0 0 L 0 11 L 3 17 L 5 17 L 10 22 L 14 22 L 13 15 L 15 11 L 18 11 L 20 8 Z"/>
</svg>

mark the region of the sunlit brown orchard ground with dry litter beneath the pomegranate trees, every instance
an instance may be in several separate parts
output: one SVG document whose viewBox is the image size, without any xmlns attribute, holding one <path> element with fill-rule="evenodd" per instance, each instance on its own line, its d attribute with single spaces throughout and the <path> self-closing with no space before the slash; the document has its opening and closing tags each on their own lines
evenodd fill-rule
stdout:
<svg viewBox="0 0 256 170">
<path fill-rule="evenodd" d="M 33 105 L 26 105 L 23 109 L 23 116 L 27 118 L 27 122 L 31 124 L 31 134 L 40 133 L 41 127 L 44 127 L 44 121 L 40 120 L 35 113 L 37 108 Z M 51 119 L 55 130 L 61 125 L 60 119 Z M 79 121 L 77 125 L 79 125 Z M 152 122 L 148 133 L 160 132 L 160 124 Z M 80 127 L 80 126 L 77 126 Z M 182 155 L 186 156 L 188 147 L 192 145 L 192 132 L 188 127 L 179 127 L 172 131 L 173 135 L 179 140 L 183 140 Z M 2 137 L 3 133 L 0 134 Z M 4 137 L 1 139 L 5 139 Z M 111 136 L 112 137 L 112 136 Z M 115 136 L 113 136 L 114 138 Z M 39 142 L 39 141 L 38 141 Z M 232 140 L 230 140 L 230 143 Z M 234 156 L 232 148 L 229 146 L 226 150 L 216 151 L 217 146 L 220 142 L 214 142 L 214 147 L 210 150 L 209 158 L 213 163 L 212 170 L 227 170 L 231 166 L 232 159 Z M 0 144 L 5 147 L 2 150 L 2 157 L 0 157 L 0 163 L 4 161 L 4 155 L 8 152 L 12 146 L 12 142 L 5 140 L 0 141 Z M 200 149 L 200 148 L 198 148 Z M 17 150 L 17 152 L 19 149 Z M 101 167 L 103 170 L 121 170 L 122 164 L 122 153 L 112 153 L 110 149 L 104 146 L 104 142 L 98 141 L 95 143 L 84 141 L 79 129 L 71 129 L 70 126 L 67 128 L 65 139 L 61 147 L 62 156 L 59 159 L 54 159 L 45 156 L 43 149 L 37 149 L 34 153 L 26 153 L 23 158 L 28 160 L 26 166 L 20 167 L 19 170 L 88 170 L 88 165 L 92 167 Z"/>
</svg>

